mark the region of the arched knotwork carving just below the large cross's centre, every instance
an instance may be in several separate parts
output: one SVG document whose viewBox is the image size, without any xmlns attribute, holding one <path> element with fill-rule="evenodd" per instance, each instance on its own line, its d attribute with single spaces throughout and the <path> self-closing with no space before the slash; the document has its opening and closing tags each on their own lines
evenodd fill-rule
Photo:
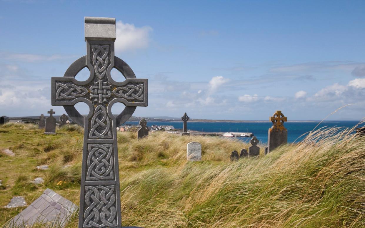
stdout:
<svg viewBox="0 0 365 228">
<path fill-rule="evenodd" d="M 89 132 L 91 139 L 111 139 L 110 119 L 107 110 L 103 105 L 95 108 L 94 115 L 91 118 L 91 130 Z"/>
</svg>

